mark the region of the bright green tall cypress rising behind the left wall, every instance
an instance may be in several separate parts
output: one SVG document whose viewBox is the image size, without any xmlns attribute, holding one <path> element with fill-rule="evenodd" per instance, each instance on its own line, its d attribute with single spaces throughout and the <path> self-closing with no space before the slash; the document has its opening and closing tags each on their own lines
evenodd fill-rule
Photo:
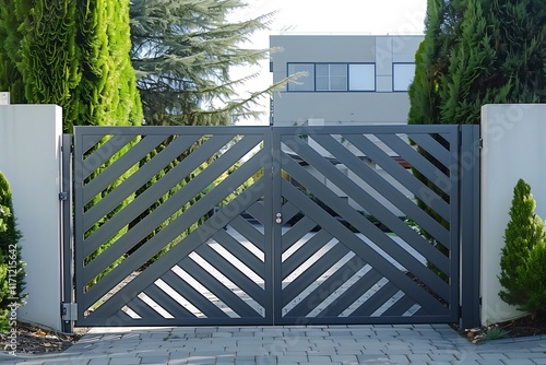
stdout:
<svg viewBox="0 0 546 365">
<path fill-rule="evenodd" d="M 14 103 L 60 105 L 67 132 L 140 123 L 128 0 L 0 2 L 0 87 Z"/>
</svg>

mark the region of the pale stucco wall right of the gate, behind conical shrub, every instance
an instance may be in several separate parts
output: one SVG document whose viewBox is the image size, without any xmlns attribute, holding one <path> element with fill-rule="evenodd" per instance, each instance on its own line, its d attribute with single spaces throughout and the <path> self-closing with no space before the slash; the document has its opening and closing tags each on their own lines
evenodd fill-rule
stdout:
<svg viewBox="0 0 546 365">
<path fill-rule="evenodd" d="M 523 315 L 498 296 L 500 249 L 518 179 L 546 219 L 546 105 L 483 106 L 482 138 L 482 322 L 489 325 Z"/>
</svg>

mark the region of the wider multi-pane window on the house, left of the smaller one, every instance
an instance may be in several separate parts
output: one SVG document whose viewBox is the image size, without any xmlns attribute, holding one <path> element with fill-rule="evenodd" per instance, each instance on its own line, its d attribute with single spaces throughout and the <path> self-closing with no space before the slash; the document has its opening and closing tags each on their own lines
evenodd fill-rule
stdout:
<svg viewBox="0 0 546 365">
<path fill-rule="evenodd" d="M 376 90 L 373 63 L 288 63 L 288 76 L 298 72 L 307 74 L 289 82 L 289 92 Z"/>
</svg>

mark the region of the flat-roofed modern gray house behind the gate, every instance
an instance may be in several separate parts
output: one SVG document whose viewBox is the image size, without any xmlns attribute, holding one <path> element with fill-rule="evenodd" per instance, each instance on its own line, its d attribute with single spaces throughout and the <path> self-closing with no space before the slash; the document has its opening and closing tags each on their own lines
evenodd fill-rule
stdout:
<svg viewBox="0 0 546 365">
<path fill-rule="evenodd" d="M 272 35 L 273 82 L 306 72 L 275 93 L 270 123 L 407 122 L 407 87 L 423 35 Z"/>
</svg>

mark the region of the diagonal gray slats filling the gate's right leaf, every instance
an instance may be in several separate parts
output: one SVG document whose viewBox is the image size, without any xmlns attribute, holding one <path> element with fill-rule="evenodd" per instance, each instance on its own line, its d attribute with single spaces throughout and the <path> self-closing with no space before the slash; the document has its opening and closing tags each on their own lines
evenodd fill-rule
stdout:
<svg viewBox="0 0 546 365">
<path fill-rule="evenodd" d="M 418 140 L 423 144 L 422 148 L 439 154 L 438 161 L 442 162 L 444 166 L 437 167 L 411 145 L 406 133 L 333 134 L 324 132 L 324 129 L 311 128 L 306 132 L 309 132 L 308 140 L 288 133 L 281 137 L 284 151 L 281 157 L 283 174 L 289 176 L 289 179 L 298 186 L 299 191 L 306 192 L 305 195 L 296 193 L 290 184 L 282 182 L 285 205 L 290 207 L 292 211 L 296 210 L 296 213 L 293 213 L 290 217 L 298 214 L 304 215 L 283 234 L 283 252 L 313 227 L 312 229 L 317 231 L 318 228 L 319 233 L 328 231 L 332 237 L 343 243 L 346 250 L 360 260 L 361 264 L 357 270 L 361 270 L 365 262 L 373 262 L 375 270 L 368 271 L 366 274 L 360 273 L 359 275 L 365 278 L 364 280 L 354 278 L 355 272 L 346 269 L 342 271 L 345 273 L 344 275 L 340 274 L 340 271 L 334 272 L 331 276 L 320 276 L 316 272 L 311 274 L 310 272 L 317 271 L 317 269 L 312 269 L 312 266 L 309 266 L 307 261 L 312 258 L 317 250 L 314 247 L 309 250 L 298 247 L 295 250 L 297 254 L 290 252 L 292 260 L 283 260 L 283 278 L 289 272 L 300 270 L 299 276 L 293 278 L 293 283 L 298 285 L 287 285 L 283 291 L 285 306 L 288 303 L 299 301 L 283 311 L 285 318 L 298 316 L 365 318 L 426 316 L 427 314 L 449 315 L 449 308 L 438 303 L 429 293 L 424 293 L 416 283 L 405 276 L 404 272 L 412 272 L 418 276 L 422 283 L 425 283 L 449 303 L 456 299 L 452 286 L 430 272 L 425 263 L 426 261 L 434 262 L 438 269 L 452 279 L 458 270 L 451 266 L 449 257 L 442 255 L 427 239 L 410 228 L 381 201 L 376 200 L 373 193 L 390 199 L 392 207 L 405 212 L 414 221 L 424 222 L 426 229 L 431 232 L 444 247 L 454 249 L 455 246 L 451 246 L 451 243 L 456 233 L 428 215 L 428 212 L 418 207 L 411 197 L 402 195 L 400 187 L 392 185 L 389 180 L 396 181 L 399 186 L 407 188 L 410 192 L 420 193 L 419 199 L 424 195 L 431 196 L 432 202 L 429 201 L 429 207 L 436 209 L 440 216 L 449 220 L 453 211 L 450 207 L 452 200 L 442 200 L 436 192 L 416 179 L 410 170 L 403 168 L 393 156 L 403 156 L 404 158 L 407 156 L 405 161 L 413 162 L 414 168 L 425 172 L 424 176 L 436 177 L 436 182 L 439 181 L 443 193 L 452 195 L 453 184 L 450 182 L 449 175 L 444 175 L 439 168 L 453 165 L 453 153 L 446 150 L 430 134 L 412 134 L 412 137 L 418 136 L 414 138 L 414 141 Z M 443 138 L 444 141 L 450 141 L 451 137 L 444 136 Z M 372 140 L 380 141 L 382 145 L 371 142 Z M 450 145 L 452 144 L 450 143 Z M 329 158 L 324 158 L 324 155 L 328 155 Z M 381 166 L 381 175 L 372 167 L 375 163 Z M 359 186 L 359 184 L 361 185 Z M 337 198 L 340 196 L 346 196 L 348 200 L 340 200 Z M 320 204 L 317 205 L 312 201 L 320 202 Z M 384 233 L 370 224 L 368 219 L 354 208 L 355 205 L 365 207 L 368 214 L 371 213 L 375 219 L 384 222 L 388 228 L 395 232 L 407 244 L 401 245 L 397 240 L 389 239 Z M 319 214 L 319 210 L 324 213 L 322 210 L 325 209 L 324 207 L 328 208 L 330 216 Z M 319 217 L 320 215 L 322 217 Z M 343 225 L 342 222 L 344 222 Z M 301 228 L 304 226 L 305 228 Z M 364 237 L 369 238 L 369 242 L 364 238 L 361 240 L 351 239 L 348 227 L 354 231 L 351 235 L 354 237 L 364 235 Z M 352 240 L 360 242 L 360 244 L 354 246 L 351 244 Z M 363 243 L 366 246 L 360 246 Z M 368 248 L 372 249 L 373 254 L 380 254 L 381 259 L 387 260 L 387 262 L 372 259 L 373 254 L 368 251 Z M 332 261 L 323 262 L 320 266 L 321 272 L 331 264 Z M 391 264 L 400 268 L 397 270 L 402 270 L 399 271 L 401 275 L 395 274 L 394 270 L 388 269 Z M 304 266 L 306 267 L 301 270 Z M 406 284 L 401 284 L 402 282 Z M 314 289 L 309 293 L 310 287 Z M 292 291 L 288 292 L 288 289 Z M 319 304 L 321 302 L 322 304 Z"/>
</svg>

